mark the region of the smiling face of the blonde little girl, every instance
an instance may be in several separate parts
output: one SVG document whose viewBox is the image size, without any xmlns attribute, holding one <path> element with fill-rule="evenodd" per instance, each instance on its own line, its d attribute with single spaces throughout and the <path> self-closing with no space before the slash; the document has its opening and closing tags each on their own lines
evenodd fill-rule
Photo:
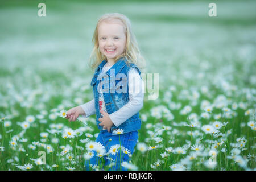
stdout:
<svg viewBox="0 0 256 182">
<path fill-rule="evenodd" d="M 102 54 L 109 62 L 125 51 L 126 35 L 120 20 L 101 22 L 98 27 L 98 43 Z"/>
</svg>

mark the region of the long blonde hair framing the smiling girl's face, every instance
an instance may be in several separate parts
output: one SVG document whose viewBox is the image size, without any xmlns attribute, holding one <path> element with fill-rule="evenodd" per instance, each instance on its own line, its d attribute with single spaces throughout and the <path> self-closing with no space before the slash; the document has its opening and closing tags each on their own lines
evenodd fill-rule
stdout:
<svg viewBox="0 0 256 182">
<path fill-rule="evenodd" d="M 144 57 L 141 55 L 141 51 L 139 51 L 137 40 L 133 32 L 131 31 L 130 20 L 125 15 L 119 14 L 119 13 L 104 14 L 101 16 L 100 19 L 98 19 L 98 22 L 93 34 L 93 39 L 92 39 L 94 46 L 89 59 L 90 67 L 92 69 L 95 69 L 98 67 L 98 65 L 100 65 L 102 60 L 104 59 L 106 60 L 106 56 L 102 54 L 100 52 L 100 49 L 98 48 L 99 47 L 98 27 L 101 22 L 104 22 L 104 21 L 109 22 L 114 19 L 121 20 L 125 30 L 125 34 L 126 34 L 125 51 L 121 55 L 118 55 L 117 57 L 115 57 L 114 61 L 116 62 L 121 57 L 125 57 L 128 62 L 136 64 L 139 69 L 144 69 L 145 60 L 144 60 Z"/>
</svg>

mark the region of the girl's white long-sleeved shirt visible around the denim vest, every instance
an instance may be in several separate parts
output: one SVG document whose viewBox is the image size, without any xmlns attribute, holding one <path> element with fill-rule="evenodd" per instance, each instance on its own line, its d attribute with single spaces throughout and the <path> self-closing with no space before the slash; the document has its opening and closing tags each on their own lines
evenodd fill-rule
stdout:
<svg viewBox="0 0 256 182">
<path fill-rule="evenodd" d="M 101 73 L 108 71 L 112 67 L 112 65 L 109 67 L 106 67 L 105 65 L 102 68 Z M 139 76 L 136 68 L 131 68 L 128 73 L 128 87 L 129 102 L 123 105 L 119 110 L 109 114 L 109 118 L 117 127 L 132 117 L 134 114 L 138 113 L 138 111 L 141 110 L 143 106 L 144 82 Z M 104 102 L 104 99 L 102 101 Z M 90 115 L 96 113 L 94 99 L 80 106 L 85 112 L 85 114 L 82 115 L 83 117 L 87 118 Z M 102 109 L 106 111 L 105 104 L 102 106 Z"/>
</svg>

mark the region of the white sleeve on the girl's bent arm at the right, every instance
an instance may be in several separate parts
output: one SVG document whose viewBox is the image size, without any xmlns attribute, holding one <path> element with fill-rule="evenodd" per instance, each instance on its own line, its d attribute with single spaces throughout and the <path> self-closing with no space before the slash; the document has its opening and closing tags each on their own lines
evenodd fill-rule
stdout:
<svg viewBox="0 0 256 182">
<path fill-rule="evenodd" d="M 129 102 L 119 110 L 109 114 L 111 121 L 117 127 L 138 113 L 143 107 L 144 82 L 136 68 L 131 68 L 128 73 L 128 87 Z"/>
</svg>

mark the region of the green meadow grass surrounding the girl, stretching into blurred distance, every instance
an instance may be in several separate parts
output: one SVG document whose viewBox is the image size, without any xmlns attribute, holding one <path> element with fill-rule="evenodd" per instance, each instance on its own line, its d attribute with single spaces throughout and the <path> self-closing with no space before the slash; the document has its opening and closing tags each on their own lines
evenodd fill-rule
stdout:
<svg viewBox="0 0 256 182">
<path fill-rule="evenodd" d="M 205 1 L 44 1 L 47 6 L 47 16 L 37 15 L 39 1 L 1 1 L 0 3 L 0 169 L 19 170 L 16 166 L 26 163 L 33 165 L 32 170 L 67 170 L 74 167 L 82 170 L 85 144 L 80 139 L 87 138 L 85 133 L 97 134 L 95 115 L 85 119 L 93 130 L 85 130 L 80 137 L 64 139 L 61 134 L 64 127 L 73 130 L 84 127 L 80 122 L 68 122 L 67 119 L 56 117 L 50 119 L 52 109 L 70 109 L 93 99 L 90 81 L 93 71 L 89 68 L 88 59 L 92 51 L 92 35 L 97 19 L 104 13 L 119 12 L 130 18 L 139 47 L 146 58 L 147 68 L 143 73 L 159 73 L 159 97 L 148 100 L 148 90 L 144 95 L 141 118 L 147 116 L 139 130 L 139 143 L 156 146 L 151 132 L 170 126 L 159 137 L 162 144 L 155 150 L 142 152 L 135 147 L 131 162 L 139 170 L 171 170 L 173 164 L 185 164 L 189 170 L 254 170 L 255 159 L 246 161 L 241 167 L 232 159 L 231 151 L 239 148 L 241 153 L 236 157 L 245 160 L 248 155 L 255 155 L 255 130 L 247 126 L 249 121 L 255 122 L 255 7 L 254 1 L 216 1 L 217 17 L 209 18 L 208 2 Z M 144 80 L 146 81 L 146 80 Z M 176 90 L 171 91 L 170 86 Z M 206 86 L 207 92 L 202 89 Z M 187 90 L 188 95 L 181 97 Z M 193 91 L 199 94 L 193 98 Z M 171 92 L 171 97 L 168 96 Z M 226 104 L 220 108 L 213 107 L 209 119 L 201 117 L 204 113 L 201 105 L 204 101 L 210 104 L 220 104 L 218 97 L 225 97 Z M 166 99 L 167 97 L 167 99 Z M 81 99 L 80 102 L 77 98 Z M 180 103 L 179 109 L 171 109 L 170 102 Z M 193 104 L 195 102 L 195 105 Z M 245 104 L 232 109 L 232 104 Z M 191 106 L 189 114 L 181 114 L 184 106 Z M 152 115 L 152 109 L 162 106 L 174 119 Z M 223 114 L 223 107 L 232 109 L 230 118 L 222 115 L 214 119 L 214 114 Z M 249 115 L 245 112 L 250 110 Z M 42 114 L 47 111 L 47 114 Z M 160 112 L 160 111 L 159 111 Z M 218 120 L 228 122 L 221 127 L 221 133 L 231 131 L 228 136 L 212 138 L 205 134 L 201 127 L 192 128 L 199 135 L 191 137 L 187 134 L 191 127 L 181 125 L 188 121 L 188 116 L 196 114 L 201 125 L 212 124 Z M 23 129 L 18 125 L 24 122 L 28 115 L 42 114 L 42 119 L 35 119 L 21 138 L 27 142 L 18 141 L 18 146 L 10 144 L 11 138 L 19 135 Z M 81 118 L 82 119 L 82 118 Z M 4 127 L 4 122 L 10 121 L 10 127 Z M 60 134 L 51 134 L 51 124 L 63 123 Z M 147 128 L 147 124 L 152 127 Z M 177 123 L 177 125 L 175 125 Z M 175 133 L 177 131 L 177 133 Z M 47 132 L 49 136 L 42 140 L 40 133 Z M 245 146 L 236 147 L 239 138 L 245 138 Z M 59 142 L 53 143 L 57 138 Z M 91 140 L 95 140 L 93 137 Z M 150 142 L 151 140 L 151 142 Z M 36 146 L 35 150 L 28 148 L 32 142 L 50 144 L 54 151 Z M 172 142 L 173 141 L 173 142 Z M 216 148 L 217 165 L 214 168 L 204 164 L 209 159 L 208 152 L 214 142 L 224 142 Z M 190 143 L 191 142 L 191 143 Z M 60 155 L 61 146 L 69 144 L 73 150 L 69 154 L 78 156 L 68 160 L 67 154 Z M 166 148 L 186 147 L 185 144 L 202 144 L 203 154 L 191 159 L 191 164 L 185 160 L 193 154 L 191 148 L 186 154 L 169 152 L 167 158 L 162 158 Z M 137 144 L 138 146 L 138 144 Z M 23 148 L 24 151 L 19 151 Z M 226 152 L 222 152 L 226 148 Z M 39 151 L 46 152 L 46 165 L 36 165 L 31 158 L 37 159 Z M 151 164 L 160 160 L 160 166 L 151 168 Z M 248 158 L 247 158 L 248 159 Z M 243 161 L 242 161 L 243 162 Z M 57 164 L 59 167 L 53 168 Z M 105 167 L 108 169 L 108 167 Z"/>
</svg>

